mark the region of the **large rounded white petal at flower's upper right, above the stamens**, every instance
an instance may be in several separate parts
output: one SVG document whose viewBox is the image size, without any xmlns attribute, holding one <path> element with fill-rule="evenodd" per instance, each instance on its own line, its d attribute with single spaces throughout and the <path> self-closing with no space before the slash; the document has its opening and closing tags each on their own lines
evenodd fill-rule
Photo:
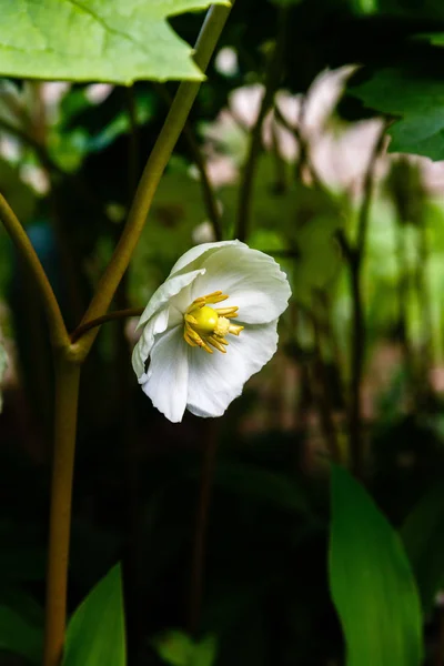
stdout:
<svg viewBox="0 0 444 666">
<path fill-rule="evenodd" d="M 225 248 L 201 264 L 205 274 L 194 280 L 193 299 L 221 290 L 229 299 L 221 307 L 236 305 L 236 321 L 264 324 L 278 319 L 291 296 L 289 281 L 272 256 L 246 245 Z"/>
</svg>

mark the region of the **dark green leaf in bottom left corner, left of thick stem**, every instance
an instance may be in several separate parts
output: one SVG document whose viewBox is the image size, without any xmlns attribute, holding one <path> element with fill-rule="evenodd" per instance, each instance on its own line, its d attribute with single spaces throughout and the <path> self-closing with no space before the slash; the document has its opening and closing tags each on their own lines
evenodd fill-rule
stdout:
<svg viewBox="0 0 444 666">
<path fill-rule="evenodd" d="M 26 622 L 19 613 L 0 606 L 0 649 L 8 650 L 40 664 L 43 632 Z"/>
</svg>

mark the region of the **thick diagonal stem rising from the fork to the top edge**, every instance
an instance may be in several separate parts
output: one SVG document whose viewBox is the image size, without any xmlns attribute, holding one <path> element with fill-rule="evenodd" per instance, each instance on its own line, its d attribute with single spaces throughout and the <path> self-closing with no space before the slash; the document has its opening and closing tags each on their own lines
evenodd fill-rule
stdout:
<svg viewBox="0 0 444 666">
<path fill-rule="evenodd" d="M 194 56 L 195 62 L 203 71 L 210 62 L 231 7 L 232 4 L 230 7 L 212 6 L 206 14 L 195 44 Z M 90 306 L 83 316 L 82 324 L 101 316 L 107 312 L 111 303 L 118 284 L 128 269 L 132 253 L 139 242 L 160 179 L 183 130 L 200 85 L 200 81 L 184 81 L 179 87 L 164 125 L 143 170 L 123 233 L 99 282 Z M 93 329 L 83 336 L 79 343 L 81 345 L 79 356 L 84 357 L 88 354 L 95 335 L 97 330 Z"/>
</svg>

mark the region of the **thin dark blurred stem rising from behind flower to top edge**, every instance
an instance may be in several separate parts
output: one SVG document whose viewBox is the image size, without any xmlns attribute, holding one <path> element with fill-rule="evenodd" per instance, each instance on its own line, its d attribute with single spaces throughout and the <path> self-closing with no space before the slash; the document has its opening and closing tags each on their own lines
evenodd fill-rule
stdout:
<svg viewBox="0 0 444 666">
<path fill-rule="evenodd" d="M 274 93 L 280 81 L 282 57 L 284 53 L 284 38 L 286 31 L 285 21 L 286 12 L 283 10 L 280 17 L 280 29 L 276 38 L 276 43 L 274 46 L 273 53 L 270 57 L 269 65 L 265 73 L 265 92 L 262 98 L 258 120 L 250 134 L 250 145 L 243 168 L 238 205 L 236 238 L 240 241 L 244 241 L 246 239 L 250 229 L 253 182 L 256 172 L 258 158 L 261 152 L 262 144 L 262 125 L 265 120 L 265 115 L 273 103 Z"/>
</svg>

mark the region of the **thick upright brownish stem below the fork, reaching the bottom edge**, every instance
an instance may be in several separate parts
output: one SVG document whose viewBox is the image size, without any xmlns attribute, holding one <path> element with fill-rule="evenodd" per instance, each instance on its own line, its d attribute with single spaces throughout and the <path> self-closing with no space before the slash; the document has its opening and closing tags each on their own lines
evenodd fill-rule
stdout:
<svg viewBox="0 0 444 666">
<path fill-rule="evenodd" d="M 64 643 L 79 381 L 80 365 L 58 356 L 43 666 L 59 666 Z"/>
</svg>

